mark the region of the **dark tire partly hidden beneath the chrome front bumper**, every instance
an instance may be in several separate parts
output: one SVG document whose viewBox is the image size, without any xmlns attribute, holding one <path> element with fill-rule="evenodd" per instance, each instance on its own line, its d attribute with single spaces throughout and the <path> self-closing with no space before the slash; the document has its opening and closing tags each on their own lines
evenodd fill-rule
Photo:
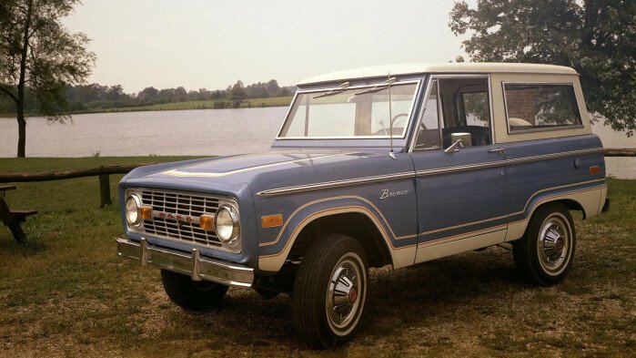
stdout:
<svg viewBox="0 0 636 358">
<path fill-rule="evenodd" d="M 192 281 L 189 276 L 161 270 L 161 281 L 170 301 L 191 311 L 220 307 L 227 286 L 209 281 Z"/>
</svg>

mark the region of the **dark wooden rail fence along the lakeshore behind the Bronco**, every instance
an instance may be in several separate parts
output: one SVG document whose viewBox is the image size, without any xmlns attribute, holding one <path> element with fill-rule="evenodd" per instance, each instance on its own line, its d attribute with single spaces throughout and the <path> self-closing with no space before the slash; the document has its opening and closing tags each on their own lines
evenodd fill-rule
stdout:
<svg viewBox="0 0 636 358">
<path fill-rule="evenodd" d="M 605 157 L 636 157 L 636 148 L 605 148 L 603 154 Z M 99 177 L 100 207 L 105 207 L 111 204 L 109 179 L 111 174 L 126 174 L 132 169 L 150 164 L 156 163 L 110 165 L 91 169 L 40 171 L 32 173 L 0 173 L 0 183 Z"/>
</svg>

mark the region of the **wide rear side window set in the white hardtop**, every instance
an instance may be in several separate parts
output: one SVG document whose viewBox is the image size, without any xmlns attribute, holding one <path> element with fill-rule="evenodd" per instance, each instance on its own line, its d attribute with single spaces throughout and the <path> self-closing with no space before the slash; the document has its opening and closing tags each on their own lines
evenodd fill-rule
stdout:
<svg viewBox="0 0 636 358">
<path fill-rule="evenodd" d="M 510 133 L 580 126 L 571 84 L 503 85 Z"/>
</svg>

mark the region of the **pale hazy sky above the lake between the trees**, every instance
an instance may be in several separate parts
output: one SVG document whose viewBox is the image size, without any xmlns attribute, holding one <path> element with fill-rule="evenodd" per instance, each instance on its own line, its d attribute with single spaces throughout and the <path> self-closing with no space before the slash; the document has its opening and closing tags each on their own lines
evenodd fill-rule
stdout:
<svg viewBox="0 0 636 358">
<path fill-rule="evenodd" d="M 475 1 L 468 1 L 473 5 Z M 358 66 L 448 62 L 463 55 L 452 1 L 83 0 L 63 19 L 92 39 L 89 83 L 222 89 Z"/>
</svg>

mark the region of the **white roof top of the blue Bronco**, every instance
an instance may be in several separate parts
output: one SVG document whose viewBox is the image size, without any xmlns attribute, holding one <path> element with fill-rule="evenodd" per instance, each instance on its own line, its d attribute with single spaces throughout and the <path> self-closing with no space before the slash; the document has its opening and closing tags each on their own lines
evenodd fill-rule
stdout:
<svg viewBox="0 0 636 358">
<path fill-rule="evenodd" d="M 386 77 L 389 73 L 391 75 L 420 73 L 537 73 L 577 75 L 574 69 L 565 66 L 497 62 L 449 62 L 441 64 L 404 64 L 352 68 L 316 77 L 309 77 L 300 81 L 298 86 L 354 78 Z"/>
</svg>

